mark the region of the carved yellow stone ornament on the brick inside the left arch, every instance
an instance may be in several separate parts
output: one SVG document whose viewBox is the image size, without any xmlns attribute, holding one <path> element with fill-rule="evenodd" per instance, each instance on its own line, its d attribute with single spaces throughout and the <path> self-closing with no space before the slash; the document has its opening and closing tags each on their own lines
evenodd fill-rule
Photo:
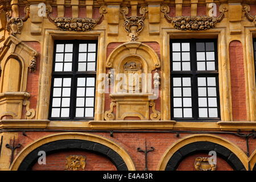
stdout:
<svg viewBox="0 0 256 182">
<path fill-rule="evenodd" d="M 82 155 L 69 155 L 66 158 L 66 170 L 79 171 L 84 170 L 86 165 L 86 156 Z"/>
</svg>

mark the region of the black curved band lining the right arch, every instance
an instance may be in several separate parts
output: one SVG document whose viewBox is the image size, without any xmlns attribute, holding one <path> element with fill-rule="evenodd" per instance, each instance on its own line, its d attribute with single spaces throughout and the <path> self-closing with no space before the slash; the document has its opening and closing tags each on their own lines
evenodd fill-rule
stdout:
<svg viewBox="0 0 256 182">
<path fill-rule="evenodd" d="M 220 156 L 222 159 L 224 159 L 234 170 L 246 170 L 240 159 L 238 159 L 232 151 L 224 146 L 221 146 L 220 144 L 212 142 L 193 142 L 181 147 L 174 153 L 174 155 L 172 155 L 171 159 L 167 163 L 165 170 L 175 171 L 181 161 L 187 156 L 195 154 L 197 152 L 209 151 L 216 151 L 217 156 Z"/>
</svg>

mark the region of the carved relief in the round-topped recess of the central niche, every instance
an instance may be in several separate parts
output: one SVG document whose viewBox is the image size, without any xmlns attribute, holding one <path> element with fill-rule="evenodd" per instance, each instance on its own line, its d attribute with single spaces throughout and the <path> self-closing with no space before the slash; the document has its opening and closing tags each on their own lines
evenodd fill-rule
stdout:
<svg viewBox="0 0 256 182">
<path fill-rule="evenodd" d="M 138 61 L 128 61 L 123 66 L 125 81 L 123 89 L 125 92 L 141 92 L 142 90 L 142 64 Z"/>
</svg>

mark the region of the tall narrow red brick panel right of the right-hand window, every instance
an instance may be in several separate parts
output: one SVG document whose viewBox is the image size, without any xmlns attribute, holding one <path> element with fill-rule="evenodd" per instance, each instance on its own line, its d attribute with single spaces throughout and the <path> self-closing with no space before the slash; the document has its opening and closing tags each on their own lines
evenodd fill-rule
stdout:
<svg viewBox="0 0 256 182">
<path fill-rule="evenodd" d="M 233 121 L 246 121 L 245 70 L 243 67 L 243 47 L 234 40 L 229 44 L 229 62 L 232 90 Z"/>
</svg>

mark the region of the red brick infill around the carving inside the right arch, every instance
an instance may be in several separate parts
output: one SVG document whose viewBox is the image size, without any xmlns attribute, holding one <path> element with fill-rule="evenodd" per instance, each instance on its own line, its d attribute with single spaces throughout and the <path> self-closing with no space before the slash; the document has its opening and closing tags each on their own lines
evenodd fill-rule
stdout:
<svg viewBox="0 0 256 182">
<path fill-rule="evenodd" d="M 183 159 L 182 162 L 177 167 L 177 171 L 196 171 L 195 169 L 195 159 L 197 157 L 207 157 L 210 156 L 208 154 L 193 154 L 187 156 L 187 158 Z M 222 158 L 217 156 L 217 169 L 216 171 L 233 171 L 233 168 Z"/>
</svg>

